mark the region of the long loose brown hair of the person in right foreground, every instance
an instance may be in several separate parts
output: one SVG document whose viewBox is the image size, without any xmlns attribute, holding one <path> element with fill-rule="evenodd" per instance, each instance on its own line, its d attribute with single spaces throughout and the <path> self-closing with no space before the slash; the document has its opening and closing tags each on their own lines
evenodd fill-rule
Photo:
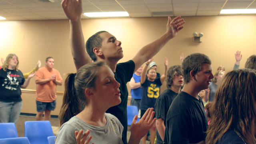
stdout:
<svg viewBox="0 0 256 144">
<path fill-rule="evenodd" d="M 215 144 L 229 130 L 256 144 L 256 71 L 240 69 L 222 78 L 215 94 L 206 144 Z"/>
</svg>

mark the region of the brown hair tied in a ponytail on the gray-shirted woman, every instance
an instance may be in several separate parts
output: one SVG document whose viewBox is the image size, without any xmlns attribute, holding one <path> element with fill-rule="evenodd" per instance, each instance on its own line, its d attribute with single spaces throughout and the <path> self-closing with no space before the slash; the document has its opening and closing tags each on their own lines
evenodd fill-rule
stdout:
<svg viewBox="0 0 256 144">
<path fill-rule="evenodd" d="M 60 126 L 79 114 L 86 106 L 86 88 L 95 88 L 98 70 L 107 66 L 105 62 L 92 62 L 79 68 L 76 74 L 68 74 L 60 108 Z"/>
</svg>

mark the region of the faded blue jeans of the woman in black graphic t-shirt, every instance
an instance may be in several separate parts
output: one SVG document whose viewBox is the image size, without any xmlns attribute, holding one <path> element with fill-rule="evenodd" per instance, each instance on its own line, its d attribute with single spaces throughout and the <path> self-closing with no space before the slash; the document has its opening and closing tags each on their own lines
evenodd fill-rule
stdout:
<svg viewBox="0 0 256 144">
<path fill-rule="evenodd" d="M 0 102 L 0 122 L 14 122 L 17 124 L 21 108 L 22 101 Z"/>
</svg>

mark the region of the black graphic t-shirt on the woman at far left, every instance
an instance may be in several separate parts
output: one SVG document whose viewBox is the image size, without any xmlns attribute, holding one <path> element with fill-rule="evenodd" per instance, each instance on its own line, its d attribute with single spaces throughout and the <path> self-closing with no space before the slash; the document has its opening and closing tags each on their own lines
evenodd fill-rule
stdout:
<svg viewBox="0 0 256 144">
<path fill-rule="evenodd" d="M 25 78 L 20 70 L 0 69 L 0 101 L 20 102 L 20 86 L 25 82 Z"/>
</svg>

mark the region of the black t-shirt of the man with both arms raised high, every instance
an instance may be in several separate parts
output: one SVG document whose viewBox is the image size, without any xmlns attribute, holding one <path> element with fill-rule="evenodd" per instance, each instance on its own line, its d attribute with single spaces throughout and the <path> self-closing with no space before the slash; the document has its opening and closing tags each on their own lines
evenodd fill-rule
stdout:
<svg viewBox="0 0 256 144">
<path fill-rule="evenodd" d="M 109 108 L 106 113 L 113 114 L 118 118 L 121 124 L 124 126 L 122 134 L 122 141 L 127 144 L 127 101 L 128 101 L 128 90 L 126 83 L 132 78 L 135 64 L 132 60 L 128 62 L 119 63 L 116 65 L 115 79 L 120 83 L 121 103 L 117 106 Z"/>
</svg>

